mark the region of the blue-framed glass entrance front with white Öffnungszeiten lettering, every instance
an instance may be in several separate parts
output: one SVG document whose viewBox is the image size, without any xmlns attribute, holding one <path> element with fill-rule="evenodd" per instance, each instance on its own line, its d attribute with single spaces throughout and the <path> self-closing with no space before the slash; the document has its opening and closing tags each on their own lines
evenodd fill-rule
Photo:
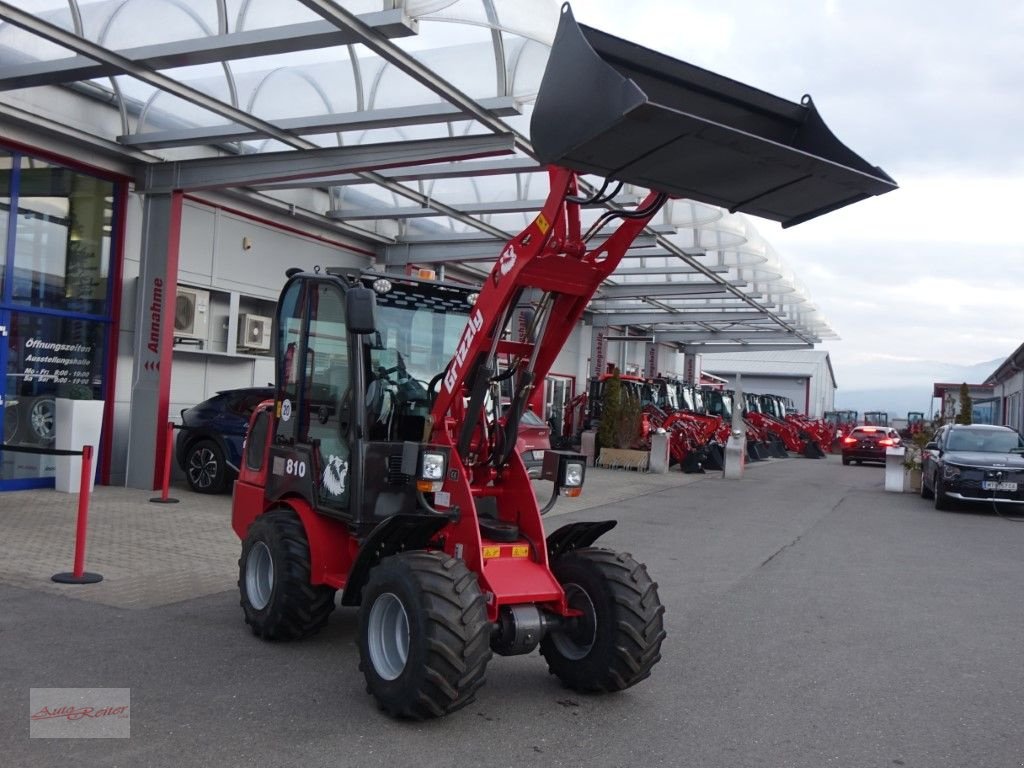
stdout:
<svg viewBox="0 0 1024 768">
<path fill-rule="evenodd" d="M 29 449 L 0 451 L 0 490 L 52 486 L 57 399 L 105 398 L 117 191 L 0 151 L 0 416 L 4 443 Z"/>
</svg>

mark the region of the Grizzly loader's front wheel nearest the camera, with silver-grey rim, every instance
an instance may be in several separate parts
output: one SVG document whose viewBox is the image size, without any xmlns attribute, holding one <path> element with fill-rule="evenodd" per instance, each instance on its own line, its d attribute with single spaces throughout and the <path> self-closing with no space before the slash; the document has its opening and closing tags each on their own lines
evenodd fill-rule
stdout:
<svg viewBox="0 0 1024 768">
<path fill-rule="evenodd" d="M 490 623 L 476 574 L 440 552 L 403 552 L 370 571 L 359 606 L 359 669 L 382 710 L 423 720 L 483 685 Z"/>
</svg>

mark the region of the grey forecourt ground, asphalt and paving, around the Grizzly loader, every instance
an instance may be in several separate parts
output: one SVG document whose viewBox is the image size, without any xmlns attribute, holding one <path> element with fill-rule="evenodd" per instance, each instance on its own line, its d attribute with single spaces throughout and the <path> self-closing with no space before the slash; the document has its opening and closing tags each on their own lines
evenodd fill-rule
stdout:
<svg viewBox="0 0 1024 768">
<path fill-rule="evenodd" d="M 0 496 L 0 765 L 1024 765 L 1024 525 L 886 493 L 880 467 L 590 470 L 589 501 L 549 527 L 620 521 L 602 543 L 646 562 L 666 606 L 652 676 L 582 695 L 536 653 L 496 656 L 475 702 L 422 723 L 365 692 L 354 609 L 306 641 L 253 637 L 227 500 L 175 492 L 178 510 L 98 490 L 89 567 L 110 575 L 89 587 L 49 584 L 41 555 L 10 564 L 66 538 L 70 498 Z M 189 558 L 208 572 L 160 589 Z M 130 737 L 30 738 L 30 689 L 55 687 L 129 688 Z"/>
</svg>

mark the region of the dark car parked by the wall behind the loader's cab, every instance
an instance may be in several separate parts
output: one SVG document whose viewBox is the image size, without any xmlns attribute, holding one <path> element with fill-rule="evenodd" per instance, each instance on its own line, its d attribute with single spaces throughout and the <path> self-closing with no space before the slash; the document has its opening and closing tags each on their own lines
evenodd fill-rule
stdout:
<svg viewBox="0 0 1024 768">
<path fill-rule="evenodd" d="M 188 486 L 200 494 L 230 490 L 239 474 L 249 417 L 271 387 L 226 389 L 181 412 L 175 458 Z"/>
</svg>

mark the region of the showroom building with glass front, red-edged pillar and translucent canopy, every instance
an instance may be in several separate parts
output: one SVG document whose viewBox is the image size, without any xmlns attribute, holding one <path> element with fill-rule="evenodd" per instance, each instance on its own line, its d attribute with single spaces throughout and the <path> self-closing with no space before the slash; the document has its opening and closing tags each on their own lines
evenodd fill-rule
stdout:
<svg viewBox="0 0 1024 768">
<path fill-rule="evenodd" d="M 4 443 L 54 444 L 58 401 L 97 402 L 97 479 L 132 487 L 157 484 L 182 409 L 274 380 L 286 269 L 485 278 L 546 195 L 525 136 L 559 15 L 550 0 L 153 7 L 0 13 Z M 716 372 L 721 352 L 833 336 L 751 219 L 673 200 L 560 351 L 544 416 L 608 364 L 693 381 L 701 358 Z M 0 489 L 53 473 L 50 455 L 0 452 Z"/>
</svg>

